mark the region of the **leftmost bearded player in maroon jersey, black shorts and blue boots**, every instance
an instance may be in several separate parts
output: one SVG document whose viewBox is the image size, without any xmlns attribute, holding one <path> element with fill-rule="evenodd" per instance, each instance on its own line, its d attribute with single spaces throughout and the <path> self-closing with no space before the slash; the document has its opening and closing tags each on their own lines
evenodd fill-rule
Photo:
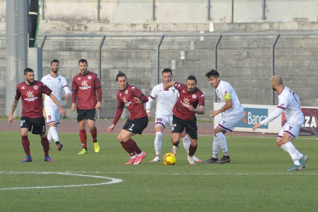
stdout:
<svg viewBox="0 0 318 212">
<path fill-rule="evenodd" d="M 43 98 L 42 94 L 48 95 L 59 108 L 61 115 L 65 116 L 66 111 L 62 108 L 57 98 L 52 94 L 52 90 L 43 82 L 34 80 L 34 72 L 31 68 L 24 70 L 25 81 L 17 85 L 16 96 L 14 97 L 8 122 L 13 122 L 13 113 L 17 103 L 22 99 L 21 116 L 21 139 L 26 158 L 21 162 L 32 162 L 30 152 L 30 141 L 28 131 L 32 134 L 40 135 L 41 144 L 44 151 L 44 161 L 53 162 L 49 156 L 49 141 L 45 133 L 45 119 L 43 116 Z"/>
</svg>

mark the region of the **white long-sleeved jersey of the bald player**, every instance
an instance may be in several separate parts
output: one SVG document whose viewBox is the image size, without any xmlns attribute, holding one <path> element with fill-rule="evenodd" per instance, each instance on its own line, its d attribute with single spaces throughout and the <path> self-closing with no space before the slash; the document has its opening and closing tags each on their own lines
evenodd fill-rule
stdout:
<svg viewBox="0 0 318 212">
<path fill-rule="evenodd" d="M 304 114 L 300 108 L 299 97 L 290 89 L 284 86 L 283 90 L 278 94 L 277 108 L 266 119 L 260 122 L 264 125 L 273 121 L 275 118 L 285 111 L 287 122 L 304 122 Z"/>
</svg>

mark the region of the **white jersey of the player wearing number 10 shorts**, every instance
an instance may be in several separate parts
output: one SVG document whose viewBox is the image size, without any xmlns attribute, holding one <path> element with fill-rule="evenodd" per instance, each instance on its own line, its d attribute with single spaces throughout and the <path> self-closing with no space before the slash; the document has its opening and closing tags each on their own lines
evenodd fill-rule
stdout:
<svg viewBox="0 0 318 212">
<path fill-rule="evenodd" d="M 146 109 L 151 108 L 151 103 L 157 98 L 156 115 L 172 116 L 173 106 L 179 97 L 179 92 L 175 87 L 170 87 L 168 90 L 163 90 L 163 82 L 156 85 L 146 103 Z"/>
</svg>

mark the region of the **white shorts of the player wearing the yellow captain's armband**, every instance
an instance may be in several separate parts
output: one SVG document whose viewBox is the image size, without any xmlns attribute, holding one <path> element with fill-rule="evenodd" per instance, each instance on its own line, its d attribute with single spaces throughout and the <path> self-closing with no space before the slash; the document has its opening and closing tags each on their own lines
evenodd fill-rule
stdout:
<svg viewBox="0 0 318 212">
<path fill-rule="evenodd" d="M 218 127 L 221 128 L 222 130 L 232 132 L 236 125 L 239 124 L 239 122 L 243 118 L 242 113 L 224 113 L 221 120 L 219 121 Z"/>
</svg>

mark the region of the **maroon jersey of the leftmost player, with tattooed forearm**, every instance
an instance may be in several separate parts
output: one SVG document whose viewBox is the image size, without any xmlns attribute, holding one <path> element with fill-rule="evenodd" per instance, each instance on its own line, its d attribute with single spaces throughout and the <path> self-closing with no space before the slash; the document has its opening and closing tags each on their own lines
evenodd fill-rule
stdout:
<svg viewBox="0 0 318 212">
<path fill-rule="evenodd" d="M 16 100 L 22 99 L 22 116 L 38 118 L 43 116 L 42 93 L 50 95 L 52 90 L 43 82 L 34 80 L 32 85 L 21 82 L 17 85 Z"/>
</svg>

